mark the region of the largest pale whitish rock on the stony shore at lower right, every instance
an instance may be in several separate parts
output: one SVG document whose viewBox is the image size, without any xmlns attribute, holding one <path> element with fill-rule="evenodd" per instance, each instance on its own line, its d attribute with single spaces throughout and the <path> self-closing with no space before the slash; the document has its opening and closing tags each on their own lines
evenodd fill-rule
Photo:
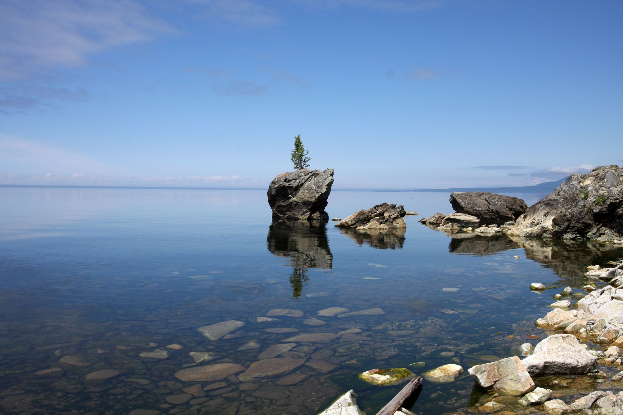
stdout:
<svg viewBox="0 0 623 415">
<path fill-rule="evenodd" d="M 528 373 L 586 374 L 597 367 L 597 360 L 586 351 L 575 336 L 557 334 L 541 340 L 532 355 L 521 361 Z"/>
</svg>

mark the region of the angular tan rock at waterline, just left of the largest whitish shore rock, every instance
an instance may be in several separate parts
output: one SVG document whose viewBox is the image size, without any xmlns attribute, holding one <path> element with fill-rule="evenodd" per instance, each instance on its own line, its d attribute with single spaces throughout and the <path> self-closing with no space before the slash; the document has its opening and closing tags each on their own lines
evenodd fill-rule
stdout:
<svg viewBox="0 0 623 415">
<path fill-rule="evenodd" d="M 483 388 L 503 395 L 518 396 L 535 389 L 535 383 L 517 356 L 473 366 L 468 372 Z"/>
</svg>

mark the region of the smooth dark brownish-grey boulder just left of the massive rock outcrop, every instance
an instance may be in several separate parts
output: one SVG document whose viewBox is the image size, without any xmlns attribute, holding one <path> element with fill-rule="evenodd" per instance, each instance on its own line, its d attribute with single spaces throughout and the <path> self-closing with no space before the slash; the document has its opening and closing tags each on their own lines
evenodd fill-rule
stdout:
<svg viewBox="0 0 623 415">
<path fill-rule="evenodd" d="M 515 221 L 528 209 L 521 199 L 489 192 L 453 192 L 450 204 L 459 213 L 477 217 L 483 225 Z"/>
</svg>

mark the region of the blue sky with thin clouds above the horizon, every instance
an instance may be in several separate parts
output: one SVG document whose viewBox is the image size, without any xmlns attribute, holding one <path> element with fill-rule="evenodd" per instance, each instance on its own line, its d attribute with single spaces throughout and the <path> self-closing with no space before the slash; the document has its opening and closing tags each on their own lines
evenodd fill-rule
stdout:
<svg viewBox="0 0 623 415">
<path fill-rule="evenodd" d="M 0 184 L 521 186 L 623 164 L 623 2 L 3 0 Z"/>
</svg>

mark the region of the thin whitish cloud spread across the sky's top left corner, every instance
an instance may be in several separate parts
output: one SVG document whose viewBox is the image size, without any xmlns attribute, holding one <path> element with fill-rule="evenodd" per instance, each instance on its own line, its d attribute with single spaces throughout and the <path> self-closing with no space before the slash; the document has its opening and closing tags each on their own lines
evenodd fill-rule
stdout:
<svg viewBox="0 0 623 415">
<path fill-rule="evenodd" d="M 84 65 L 111 47 L 174 29 L 136 0 L 3 0 L 0 80 Z"/>
</svg>

